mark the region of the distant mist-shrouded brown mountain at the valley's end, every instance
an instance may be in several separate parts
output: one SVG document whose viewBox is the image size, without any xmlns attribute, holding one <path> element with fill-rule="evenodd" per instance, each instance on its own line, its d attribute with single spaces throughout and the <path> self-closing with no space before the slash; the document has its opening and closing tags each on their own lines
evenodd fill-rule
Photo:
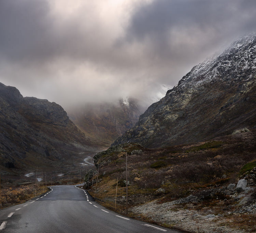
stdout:
<svg viewBox="0 0 256 233">
<path fill-rule="evenodd" d="M 70 119 L 90 139 L 108 147 L 139 120 L 144 108 L 137 99 L 116 103 L 91 103 L 68 111 Z"/>
</svg>

